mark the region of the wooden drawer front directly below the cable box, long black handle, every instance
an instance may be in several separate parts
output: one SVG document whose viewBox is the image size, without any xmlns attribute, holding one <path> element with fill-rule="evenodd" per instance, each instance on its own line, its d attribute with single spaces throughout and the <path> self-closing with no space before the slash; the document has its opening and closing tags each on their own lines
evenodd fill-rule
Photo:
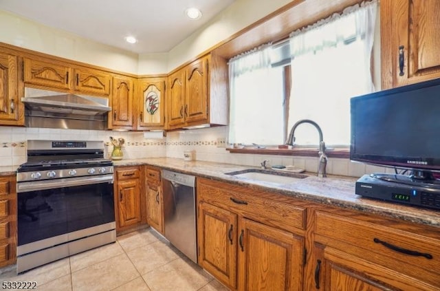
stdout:
<svg viewBox="0 0 440 291">
<path fill-rule="evenodd" d="M 438 239 L 423 236 L 422 227 L 409 232 L 391 227 L 395 222 L 366 219 L 369 221 L 317 211 L 315 239 L 360 259 L 440 285 L 438 274 L 434 274 L 440 270 Z"/>
</svg>

